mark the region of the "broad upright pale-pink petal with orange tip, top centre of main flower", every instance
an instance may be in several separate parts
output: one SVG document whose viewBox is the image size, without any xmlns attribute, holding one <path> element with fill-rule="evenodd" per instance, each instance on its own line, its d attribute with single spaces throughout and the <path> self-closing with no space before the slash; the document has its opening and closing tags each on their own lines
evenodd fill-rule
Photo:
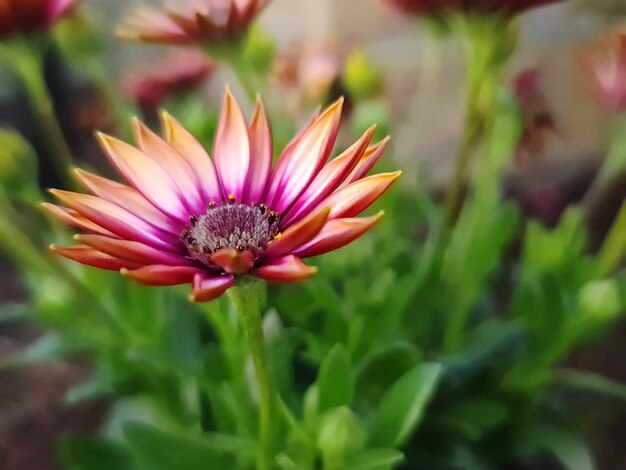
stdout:
<svg viewBox="0 0 626 470">
<path fill-rule="evenodd" d="M 229 89 L 226 89 L 213 153 L 225 196 L 233 194 L 241 200 L 250 167 L 250 143 L 243 113 Z"/>
</svg>

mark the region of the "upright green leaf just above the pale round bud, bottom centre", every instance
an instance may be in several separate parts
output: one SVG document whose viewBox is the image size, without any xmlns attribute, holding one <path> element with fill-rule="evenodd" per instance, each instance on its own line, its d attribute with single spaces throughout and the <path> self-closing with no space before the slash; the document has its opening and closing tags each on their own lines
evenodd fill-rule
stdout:
<svg viewBox="0 0 626 470">
<path fill-rule="evenodd" d="M 354 396 L 354 374 L 350 353 L 341 344 L 330 350 L 317 377 L 319 410 L 324 412 L 339 406 L 350 406 Z"/>
</svg>

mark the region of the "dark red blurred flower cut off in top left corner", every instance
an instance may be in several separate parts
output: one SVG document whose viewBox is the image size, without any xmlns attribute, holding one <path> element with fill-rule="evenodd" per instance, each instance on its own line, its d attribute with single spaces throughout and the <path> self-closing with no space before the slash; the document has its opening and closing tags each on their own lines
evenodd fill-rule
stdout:
<svg viewBox="0 0 626 470">
<path fill-rule="evenodd" d="M 73 0 L 0 0 L 0 38 L 44 29 L 72 4 Z"/>
</svg>

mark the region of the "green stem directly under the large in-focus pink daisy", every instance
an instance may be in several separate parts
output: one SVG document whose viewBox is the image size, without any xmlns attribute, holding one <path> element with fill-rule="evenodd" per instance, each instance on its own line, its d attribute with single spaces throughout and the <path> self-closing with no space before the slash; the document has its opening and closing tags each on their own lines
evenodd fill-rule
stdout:
<svg viewBox="0 0 626 470">
<path fill-rule="evenodd" d="M 248 341 L 250 355 L 259 393 L 259 438 L 261 452 L 257 468 L 270 468 L 274 429 L 276 425 L 276 392 L 265 350 L 260 297 L 263 283 L 256 279 L 243 279 L 228 292 L 239 311 L 239 318 Z"/>
</svg>

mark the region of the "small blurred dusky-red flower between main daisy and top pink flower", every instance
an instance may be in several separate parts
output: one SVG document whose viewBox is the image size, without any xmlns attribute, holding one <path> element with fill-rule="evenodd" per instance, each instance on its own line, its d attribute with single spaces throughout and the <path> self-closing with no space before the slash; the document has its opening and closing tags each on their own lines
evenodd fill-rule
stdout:
<svg viewBox="0 0 626 470">
<path fill-rule="evenodd" d="M 165 99 L 198 88 L 214 71 L 215 65 L 201 52 L 177 51 L 127 73 L 122 90 L 144 114 L 150 115 Z"/>
</svg>

